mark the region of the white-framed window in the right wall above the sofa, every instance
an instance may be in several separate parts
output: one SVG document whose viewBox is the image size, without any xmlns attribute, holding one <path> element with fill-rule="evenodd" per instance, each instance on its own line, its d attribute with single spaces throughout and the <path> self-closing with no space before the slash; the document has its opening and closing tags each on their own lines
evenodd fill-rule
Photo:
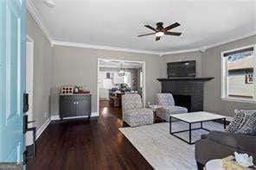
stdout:
<svg viewBox="0 0 256 170">
<path fill-rule="evenodd" d="M 253 46 L 222 53 L 222 98 L 256 100 L 255 60 Z"/>
</svg>

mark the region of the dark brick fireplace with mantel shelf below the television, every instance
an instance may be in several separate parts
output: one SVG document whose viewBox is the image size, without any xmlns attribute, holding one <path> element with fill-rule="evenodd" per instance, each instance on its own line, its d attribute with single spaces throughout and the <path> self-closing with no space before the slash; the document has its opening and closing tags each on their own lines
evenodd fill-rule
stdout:
<svg viewBox="0 0 256 170">
<path fill-rule="evenodd" d="M 203 86 L 205 81 L 214 78 L 170 78 L 157 79 L 161 82 L 162 92 L 173 94 L 176 105 L 191 111 L 203 110 Z"/>
</svg>

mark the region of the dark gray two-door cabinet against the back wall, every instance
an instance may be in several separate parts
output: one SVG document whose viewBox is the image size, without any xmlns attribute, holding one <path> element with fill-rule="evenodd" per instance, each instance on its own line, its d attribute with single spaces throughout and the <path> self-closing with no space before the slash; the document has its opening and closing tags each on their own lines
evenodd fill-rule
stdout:
<svg viewBox="0 0 256 170">
<path fill-rule="evenodd" d="M 90 118 L 91 94 L 60 94 L 60 117 L 88 116 Z"/>
</svg>

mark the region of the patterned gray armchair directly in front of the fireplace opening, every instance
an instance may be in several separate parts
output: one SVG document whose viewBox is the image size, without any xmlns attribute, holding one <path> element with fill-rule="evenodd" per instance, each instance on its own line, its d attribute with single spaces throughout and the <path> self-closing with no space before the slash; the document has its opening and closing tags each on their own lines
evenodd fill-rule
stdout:
<svg viewBox="0 0 256 170">
<path fill-rule="evenodd" d="M 169 115 L 188 112 L 187 108 L 175 105 L 174 98 L 170 93 L 157 93 L 157 104 L 163 107 L 163 113 L 157 111 L 157 116 L 166 121 L 169 121 Z"/>
</svg>

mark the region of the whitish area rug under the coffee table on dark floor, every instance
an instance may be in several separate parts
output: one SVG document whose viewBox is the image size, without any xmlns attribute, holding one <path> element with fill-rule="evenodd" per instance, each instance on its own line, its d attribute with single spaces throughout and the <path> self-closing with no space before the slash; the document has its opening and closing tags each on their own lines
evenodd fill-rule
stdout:
<svg viewBox="0 0 256 170">
<path fill-rule="evenodd" d="M 199 125 L 197 123 L 193 128 L 199 127 Z M 221 123 L 208 122 L 204 123 L 203 127 L 223 130 Z M 172 123 L 172 129 L 173 131 L 189 129 L 189 124 L 175 122 Z M 119 130 L 155 169 L 196 169 L 195 145 L 189 145 L 170 135 L 170 123 L 156 123 L 136 128 L 120 128 Z M 207 133 L 201 129 L 192 131 L 192 141 L 200 139 L 202 134 Z M 183 132 L 180 136 L 189 139 L 189 132 Z"/>
</svg>

